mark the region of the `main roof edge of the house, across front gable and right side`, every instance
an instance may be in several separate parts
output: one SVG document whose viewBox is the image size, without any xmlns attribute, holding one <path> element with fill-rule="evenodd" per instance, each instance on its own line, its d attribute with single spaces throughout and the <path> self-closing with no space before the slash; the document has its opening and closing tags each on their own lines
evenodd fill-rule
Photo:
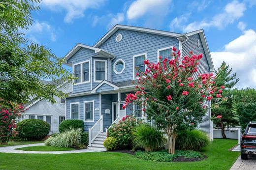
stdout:
<svg viewBox="0 0 256 170">
<path fill-rule="evenodd" d="M 214 71 L 213 61 L 212 57 L 206 42 L 205 34 L 203 29 L 199 29 L 196 31 L 192 31 L 189 33 L 175 33 L 175 32 L 169 32 L 169 31 L 163 31 L 163 30 L 157 30 L 157 29 L 150 29 L 150 28 L 141 28 L 141 27 L 133 27 L 133 26 L 126 26 L 126 25 L 115 25 L 113 28 L 111 28 L 99 41 L 96 42 L 94 45 L 95 48 L 100 47 L 111 35 L 113 35 L 116 31 L 119 29 L 125 29 L 125 30 L 133 30 L 133 31 L 139 31 L 139 32 L 146 32 L 146 33 L 152 33 L 157 35 L 163 35 L 163 36 L 169 36 L 169 37 L 175 37 L 181 42 L 186 42 L 189 39 L 189 36 L 193 34 L 199 33 L 200 39 L 203 45 L 203 49 L 206 54 L 207 62 L 209 63 L 210 71 Z"/>
</svg>

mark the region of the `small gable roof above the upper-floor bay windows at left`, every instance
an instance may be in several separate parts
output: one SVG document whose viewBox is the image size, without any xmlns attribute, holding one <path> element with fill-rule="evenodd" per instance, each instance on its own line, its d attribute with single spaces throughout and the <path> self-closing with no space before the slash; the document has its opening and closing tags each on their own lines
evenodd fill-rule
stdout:
<svg viewBox="0 0 256 170">
<path fill-rule="evenodd" d="M 76 44 L 75 47 L 72 48 L 72 50 L 70 50 L 70 52 L 68 52 L 65 55 L 65 57 L 64 57 L 65 63 L 67 63 L 67 60 L 69 58 L 71 58 L 81 48 L 86 48 L 86 49 L 94 50 L 95 54 L 96 54 L 94 57 L 110 57 L 110 58 L 115 57 L 113 54 L 107 52 L 106 50 L 78 43 L 78 44 Z"/>
</svg>

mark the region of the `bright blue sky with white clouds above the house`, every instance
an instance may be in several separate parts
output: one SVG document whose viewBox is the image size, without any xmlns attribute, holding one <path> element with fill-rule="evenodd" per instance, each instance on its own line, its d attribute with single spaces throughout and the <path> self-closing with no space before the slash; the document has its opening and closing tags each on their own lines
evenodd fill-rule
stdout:
<svg viewBox="0 0 256 170">
<path fill-rule="evenodd" d="M 215 68 L 225 60 L 256 87 L 256 0 L 42 0 L 27 37 L 64 57 L 115 24 L 186 33 L 203 28 Z"/>
</svg>

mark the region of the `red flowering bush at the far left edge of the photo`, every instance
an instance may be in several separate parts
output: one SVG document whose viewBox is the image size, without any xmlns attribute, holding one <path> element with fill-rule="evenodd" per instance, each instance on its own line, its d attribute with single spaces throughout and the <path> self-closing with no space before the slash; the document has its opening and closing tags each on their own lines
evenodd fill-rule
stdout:
<svg viewBox="0 0 256 170">
<path fill-rule="evenodd" d="M 0 144 L 5 144 L 9 140 L 16 137 L 16 119 L 23 112 L 21 105 L 13 106 L 13 109 L 5 109 L 0 107 Z"/>
</svg>

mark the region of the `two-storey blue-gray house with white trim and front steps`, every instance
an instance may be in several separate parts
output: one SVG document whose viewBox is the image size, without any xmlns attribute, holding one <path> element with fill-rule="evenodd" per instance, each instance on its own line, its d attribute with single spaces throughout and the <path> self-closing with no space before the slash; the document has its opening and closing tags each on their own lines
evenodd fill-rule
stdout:
<svg viewBox="0 0 256 170">
<path fill-rule="evenodd" d="M 94 46 L 77 44 L 66 56 L 65 63 L 77 78 L 72 93 L 66 98 L 66 119 L 84 121 L 89 131 L 89 147 L 101 149 L 105 129 L 132 111 L 122 110 L 126 94 L 135 90 L 136 67 L 145 70 L 144 58 L 158 62 L 159 56 L 170 57 L 172 47 L 182 56 L 203 54 L 199 73 L 214 71 L 213 62 L 202 29 L 174 33 L 149 28 L 116 25 Z M 210 103 L 208 103 L 210 105 Z M 141 106 L 130 106 L 136 117 L 143 117 Z M 199 129 L 212 137 L 210 109 Z"/>
</svg>

